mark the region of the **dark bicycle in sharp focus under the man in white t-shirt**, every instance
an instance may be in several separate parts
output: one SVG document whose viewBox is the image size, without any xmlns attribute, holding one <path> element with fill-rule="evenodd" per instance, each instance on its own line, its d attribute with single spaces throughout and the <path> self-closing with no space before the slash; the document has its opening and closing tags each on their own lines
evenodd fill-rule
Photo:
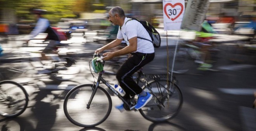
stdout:
<svg viewBox="0 0 256 131">
<path fill-rule="evenodd" d="M 99 57 L 99 55 L 94 54 L 93 58 L 97 56 Z M 104 66 L 104 60 L 100 59 L 98 62 L 102 62 Z M 178 87 L 178 81 L 175 77 L 171 81 L 166 74 L 144 74 L 140 69 L 133 79 L 137 84 L 143 84 L 142 89 L 150 92 L 153 98 L 145 107 L 137 110 L 131 108 L 137 103 L 137 96 L 133 96 L 129 102 L 126 101 L 118 91 L 104 80 L 102 74 L 115 75 L 113 72 L 103 70 L 99 72 L 97 82 L 78 85 L 67 93 L 63 107 L 64 113 L 71 123 L 90 128 L 103 123 L 108 118 L 112 109 L 112 99 L 108 91 L 99 86 L 100 82 L 124 102 L 127 111 L 139 111 L 145 119 L 152 122 L 163 122 L 174 118 L 182 107 L 182 91 Z M 86 117 L 90 117 L 90 119 L 86 119 Z"/>
</svg>

